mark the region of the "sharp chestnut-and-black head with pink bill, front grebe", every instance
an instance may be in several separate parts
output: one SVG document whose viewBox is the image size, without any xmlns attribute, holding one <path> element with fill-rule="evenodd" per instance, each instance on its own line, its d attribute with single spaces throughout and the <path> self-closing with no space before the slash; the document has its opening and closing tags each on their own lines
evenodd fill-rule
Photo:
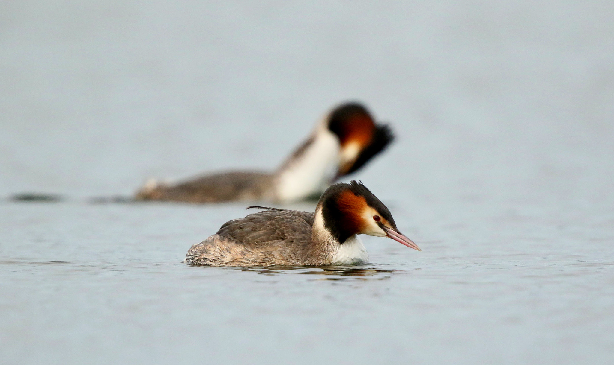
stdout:
<svg viewBox="0 0 614 365">
<path fill-rule="evenodd" d="M 411 239 L 398 231 L 392 214 L 362 183 L 335 184 L 322 194 L 318 208 L 324 228 L 344 243 L 353 235 L 388 237 L 407 247 L 421 251 Z"/>
</svg>

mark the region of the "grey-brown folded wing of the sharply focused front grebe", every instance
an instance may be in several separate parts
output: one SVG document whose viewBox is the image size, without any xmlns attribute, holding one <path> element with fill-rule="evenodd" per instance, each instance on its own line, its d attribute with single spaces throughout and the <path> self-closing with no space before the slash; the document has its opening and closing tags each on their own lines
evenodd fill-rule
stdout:
<svg viewBox="0 0 614 365">
<path fill-rule="evenodd" d="M 266 245 L 272 241 L 308 244 L 311 242 L 312 225 L 313 213 L 262 211 L 230 220 L 216 234 L 249 245 Z"/>
</svg>

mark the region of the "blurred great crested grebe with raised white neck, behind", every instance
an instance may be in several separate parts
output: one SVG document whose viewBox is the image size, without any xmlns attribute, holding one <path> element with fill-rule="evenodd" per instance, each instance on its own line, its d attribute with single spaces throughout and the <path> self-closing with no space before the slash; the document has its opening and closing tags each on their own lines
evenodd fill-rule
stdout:
<svg viewBox="0 0 614 365">
<path fill-rule="evenodd" d="M 273 173 L 230 171 L 176 185 L 152 180 L 135 199 L 188 203 L 304 200 L 319 196 L 336 179 L 358 170 L 393 138 L 391 129 L 376 124 L 363 105 L 344 103 L 328 113 Z"/>
</svg>

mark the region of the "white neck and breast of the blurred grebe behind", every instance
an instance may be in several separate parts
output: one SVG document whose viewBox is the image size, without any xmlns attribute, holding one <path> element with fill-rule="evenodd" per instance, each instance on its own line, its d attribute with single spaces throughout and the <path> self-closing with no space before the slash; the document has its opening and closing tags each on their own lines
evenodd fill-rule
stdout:
<svg viewBox="0 0 614 365">
<path fill-rule="evenodd" d="M 321 194 L 338 170 L 339 139 L 321 122 L 303 151 L 290 157 L 276 176 L 280 201 L 296 201 Z"/>
</svg>

